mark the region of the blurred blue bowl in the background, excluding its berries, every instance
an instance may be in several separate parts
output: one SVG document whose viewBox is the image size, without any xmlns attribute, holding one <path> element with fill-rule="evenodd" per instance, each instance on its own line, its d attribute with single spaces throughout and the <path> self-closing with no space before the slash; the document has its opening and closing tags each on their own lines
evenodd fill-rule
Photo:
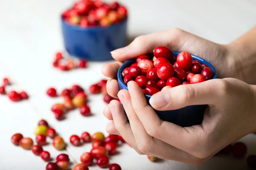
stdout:
<svg viewBox="0 0 256 170">
<path fill-rule="evenodd" d="M 113 59 L 110 52 L 126 43 L 127 19 L 106 28 L 71 26 L 61 18 L 64 46 L 74 57 L 90 61 Z"/>
</svg>

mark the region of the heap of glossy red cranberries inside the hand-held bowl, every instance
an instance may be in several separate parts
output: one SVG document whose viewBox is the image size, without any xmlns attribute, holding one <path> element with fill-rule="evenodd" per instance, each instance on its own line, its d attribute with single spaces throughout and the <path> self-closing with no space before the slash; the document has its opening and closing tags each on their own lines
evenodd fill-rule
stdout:
<svg viewBox="0 0 256 170">
<path fill-rule="evenodd" d="M 186 51 L 178 54 L 176 58 L 169 48 L 159 46 L 153 53 L 153 59 L 140 55 L 136 63 L 122 71 L 125 84 L 134 80 L 143 89 L 144 94 L 153 95 L 181 84 L 204 82 L 214 76 L 208 65 L 193 60 Z"/>
</svg>

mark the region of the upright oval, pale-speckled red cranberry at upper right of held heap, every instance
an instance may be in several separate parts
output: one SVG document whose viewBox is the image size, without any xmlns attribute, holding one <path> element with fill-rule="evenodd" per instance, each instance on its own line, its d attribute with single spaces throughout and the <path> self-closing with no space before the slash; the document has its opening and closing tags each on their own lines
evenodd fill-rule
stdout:
<svg viewBox="0 0 256 170">
<path fill-rule="evenodd" d="M 188 70 L 192 65 L 192 56 L 186 51 L 181 52 L 177 56 L 177 64 L 180 68 Z"/>
</svg>

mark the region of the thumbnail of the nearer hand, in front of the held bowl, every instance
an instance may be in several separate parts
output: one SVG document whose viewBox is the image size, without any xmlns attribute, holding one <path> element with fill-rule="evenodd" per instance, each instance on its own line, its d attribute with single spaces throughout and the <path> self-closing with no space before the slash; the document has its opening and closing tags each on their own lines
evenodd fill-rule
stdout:
<svg viewBox="0 0 256 170">
<path fill-rule="evenodd" d="M 162 108 L 169 103 L 168 94 L 166 93 L 154 94 L 149 99 L 149 103 L 153 108 Z"/>
</svg>

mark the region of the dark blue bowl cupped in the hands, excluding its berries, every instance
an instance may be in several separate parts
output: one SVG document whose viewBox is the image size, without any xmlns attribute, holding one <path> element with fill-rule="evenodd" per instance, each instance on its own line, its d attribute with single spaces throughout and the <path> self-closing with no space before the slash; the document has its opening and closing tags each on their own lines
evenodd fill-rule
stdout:
<svg viewBox="0 0 256 170">
<path fill-rule="evenodd" d="M 179 53 L 180 52 L 174 52 L 176 57 Z M 201 64 L 207 64 L 210 68 L 212 68 L 214 72 L 213 79 L 217 78 L 216 70 L 209 62 L 194 55 L 192 55 L 192 58 L 193 60 L 199 60 Z M 119 90 L 122 90 L 122 89 L 128 90 L 127 85 L 125 85 L 125 83 L 122 80 L 121 74 L 125 68 L 129 67 L 134 62 L 136 62 L 135 59 L 128 60 L 119 68 L 118 74 L 117 74 Z M 145 98 L 149 104 L 149 99 L 151 98 L 151 95 L 145 94 Z M 155 111 L 157 115 L 160 117 L 160 119 L 162 119 L 163 121 L 172 122 L 182 127 L 188 127 L 193 125 L 200 125 L 202 123 L 202 120 L 204 118 L 204 110 L 206 107 L 207 105 L 192 105 L 192 106 L 187 106 L 185 108 L 180 108 L 178 110 L 173 110 L 173 111 L 157 111 L 157 110 Z"/>
</svg>

